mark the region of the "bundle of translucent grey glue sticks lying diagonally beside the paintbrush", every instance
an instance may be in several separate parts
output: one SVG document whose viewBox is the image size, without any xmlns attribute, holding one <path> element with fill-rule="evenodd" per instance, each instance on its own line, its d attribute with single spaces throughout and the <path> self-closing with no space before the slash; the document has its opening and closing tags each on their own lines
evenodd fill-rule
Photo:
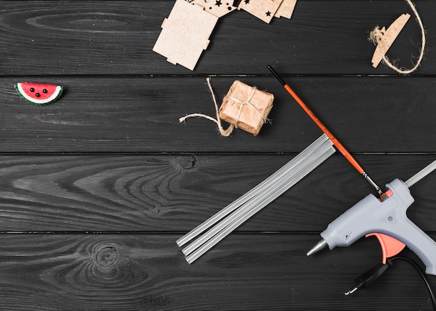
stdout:
<svg viewBox="0 0 436 311">
<path fill-rule="evenodd" d="M 219 243 L 221 239 L 224 239 L 242 225 L 244 221 L 247 221 L 248 218 L 281 196 L 291 186 L 302 180 L 304 176 L 311 173 L 313 169 L 322 164 L 334 152 L 332 141 L 329 140 L 327 135 L 322 134 L 320 138 L 311 143 L 309 147 L 306 147 L 277 172 L 178 239 L 177 244 L 180 247 L 192 241 L 189 246 L 182 249 L 187 262 L 189 264 L 194 262 L 215 244 Z"/>
</svg>

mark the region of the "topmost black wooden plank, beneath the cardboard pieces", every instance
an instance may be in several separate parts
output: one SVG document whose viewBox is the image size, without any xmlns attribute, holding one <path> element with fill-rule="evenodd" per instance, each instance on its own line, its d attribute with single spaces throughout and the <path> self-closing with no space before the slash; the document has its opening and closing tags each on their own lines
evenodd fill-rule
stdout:
<svg viewBox="0 0 436 311">
<path fill-rule="evenodd" d="M 152 51 L 173 0 L 2 1 L 1 74 L 192 74 Z M 426 58 L 416 74 L 436 71 L 435 1 L 416 3 L 428 30 Z M 405 1 L 300 1 L 292 19 L 271 24 L 243 11 L 219 20 L 196 74 L 265 74 L 267 63 L 293 74 L 395 74 L 371 66 L 368 32 L 388 26 Z M 410 67 L 421 34 L 414 19 L 389 51 Z"/>
</svg>

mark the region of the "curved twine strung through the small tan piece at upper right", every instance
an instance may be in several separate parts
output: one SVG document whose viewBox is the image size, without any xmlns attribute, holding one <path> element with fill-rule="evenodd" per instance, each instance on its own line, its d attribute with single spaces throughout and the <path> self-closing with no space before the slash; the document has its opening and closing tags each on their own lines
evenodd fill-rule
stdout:
<svg viewBox="0 0 436 311">
<path fill-rule="evenodd" d="M 412 1 L 410 0 L 405 0 L 407 2 L 407 4 L 409 4 L 410 8 L 412 8 L 412 11 L 414 13 L 414 15 L 416 16 L 416 22 L 418 22 L 419 26 L 421 27 L 421 51 L 419 54 L 419 58 L 418 61 L 416 61 L 416 64 L 414 65 L 414 67 L 412 69 L 404 69 L 404 68 L 398 68 L 396 67 L 394 64 L 391 63 L 391 61 L 389 61 L 389 58 L 386 55 L 383 55 L 382 57 L 382 61 L 383 63 L 385 63 L 388 67 L 390 67 L 391 69 L 395 70 L 396 72 L 400 73 L 400 74 L 410 74 L 411 72 L 414 72 L 416 70 L 416 68 L 419 67 L 419 65 L 421 65 L 421 61 L 424 55 L 424 48 L 426 47 L 426 31 L 424 30 L 424 26 L 422 24 L 421 21 L 421 17 L 418 14 L 418 11 L 416 11 L 416 8 L 414 6 L 414 4 L 412 3 Z M 374 43 L 374 45 L 377 45 L 378 42 L 380 42 L 383 38 L 384 33 L 380 30 L 379 26 L 376 26 L 373 31 L 371 31 L 371 33 L 369 34 L 369 38 L 368 40 L 372 41 Z"/>
</svg>

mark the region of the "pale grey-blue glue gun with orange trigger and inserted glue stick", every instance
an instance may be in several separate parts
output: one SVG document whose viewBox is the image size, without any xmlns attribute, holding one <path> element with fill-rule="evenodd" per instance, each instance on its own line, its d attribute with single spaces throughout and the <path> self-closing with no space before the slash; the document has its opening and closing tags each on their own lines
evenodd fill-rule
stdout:
<svg viewBox="0 0 436 311">
<path fill-rule="evenodd" d="M 426 273 L 436 275 L 436 242 L 406 216 L 407 208 L 414 202 L 409 187 L 435 168 L 433 161 L 406 182 L 395 179 L 387 184 L 387 191 L 380 198 L 369 194 L 357 202 L 329 223 L 321 233 L 322 240 L 307 255 L 327 246 L 350 246 L 366 234 L 375 235 L 382 246 L 383 263 L 408 246 L 426 265 Z"/>
</svg>

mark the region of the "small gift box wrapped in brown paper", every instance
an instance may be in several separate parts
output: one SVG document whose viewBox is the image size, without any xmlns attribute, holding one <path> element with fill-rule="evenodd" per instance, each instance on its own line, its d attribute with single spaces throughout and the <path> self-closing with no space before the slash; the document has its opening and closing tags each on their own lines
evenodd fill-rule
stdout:
<svg viewBox="0 0 436 311">
<path fill-rule="evenodd" d="M 234 81 L 219 108 L 219 118 L 255 136 L 267 120 L 274 95 Z"/>
</svg>

